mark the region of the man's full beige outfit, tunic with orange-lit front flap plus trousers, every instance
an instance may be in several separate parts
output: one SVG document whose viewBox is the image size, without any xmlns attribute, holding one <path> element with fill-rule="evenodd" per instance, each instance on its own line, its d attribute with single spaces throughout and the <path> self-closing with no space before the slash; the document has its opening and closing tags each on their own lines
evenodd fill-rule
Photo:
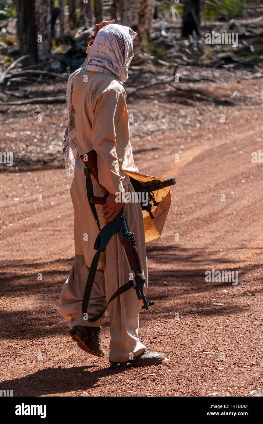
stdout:
<svg viewBox="0 0 263 424">
<path fill-rule="evenodd" d="M 98 228 L 91 213 L 86 194 L 84 166 L 79 155 L 94 149 L 97 152 L 98 176 L 110 193 L 123 190 L 132 193 L 131 176 L 137 175 L 141 181 L 152 177 L 143 176 L 134 165 L 129 140 L 129 123 L 126 94 L 122 84 L 111 75 L 99 72 L 82 72 L 73 81 L 72 105 L 75 109 L 75 123 L 78 140 L 78 153 L 75 158 L 75 174 L 70 193 L 75 215 L 75 259 L 69 278 L 61 292 L 59 307 L 61 315 L 69 326 L 101 326 L 103 315 L 96 323 L 83 320 L 81 304 L 94 257 L 94 242 Z M 114 113 L 113 113 L 114 111 Z M 102 196 L 99 185 L 93 179 L 94 195 Z M 157 193 L 156 193 L 157 195 Z M 147 258 L 144 230 L 147 241 L 159 237 L 170 205 L 169 189 L 158 192 L 161 203 L 154 208 L 154 220 L 143 218 L 139 203 L 128 203 L 125 215 L 130 231 L 134 232 L 138 254 L 146 277 Z M 163 200 L 162 200 L 163 199 Z M 104 218 L 101 205 L 96 205 L 101 227 Z M 147 213 L 147 215 L 149 215 Z M 120 243 L 118 234 L 109 241 L 105 253 L 101 254 L 94 287 L 88 307 L 88 315 L 94 316 L 105 306 L 112 294 L 129 280 L 130 269 Z M 124 362 L 130 355 L 141 354 L 145 346 L 138 338 L 138 314 L 141 309 L 135 290 L 112 301 L 108 306 L 111 321 L 111 361 Z"/>
</svg>

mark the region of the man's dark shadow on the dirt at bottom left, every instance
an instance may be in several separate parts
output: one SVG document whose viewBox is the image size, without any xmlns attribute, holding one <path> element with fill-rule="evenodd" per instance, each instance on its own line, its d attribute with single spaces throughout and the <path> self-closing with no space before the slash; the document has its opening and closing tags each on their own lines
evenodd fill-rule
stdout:
<svg viewBox="0 0 263 424">
<path fill-rule="evenodd" d="M 98 384 L 98 382 L 103 377 L 119 374 L 129 369 L 128 366 L 92 370 L 92 368 L 96 367 L 97 365 L 72 368 L 47 368 L 25 377 L 3 381 L 0 383 L 0 389 L 13 390 L 13 396 L 55 395 L 56 393 L 68 393 L 79 390 L 85 392 L 90 388 L 112 384 L 109 382 Z M 83 396 L 85 396 L 84 393 Z"/>
</svg>

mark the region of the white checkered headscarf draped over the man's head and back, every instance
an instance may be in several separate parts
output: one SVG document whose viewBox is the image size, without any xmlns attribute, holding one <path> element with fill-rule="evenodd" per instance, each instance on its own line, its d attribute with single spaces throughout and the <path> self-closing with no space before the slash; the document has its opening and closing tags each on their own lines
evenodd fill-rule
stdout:
<svg viewBox="0 0 263 424">
<path fill-rule="evenodd" d="M 68 126 L 62 144 L 67 174 L 71 169 L 74 171 L 75 157 L 78 152 L 75 110 L 72 106 L 72 81 L 80 72 L 91 71 L 113 75 L 119 82 L 124 83 L 128 78 L 128 68 L 133 59 L 135 37 L 136 32 L 129 27 L 118 24 L 105 26 L 97 33 L 88 60 L 69 75 L 66 89 Z"/>
</svg>

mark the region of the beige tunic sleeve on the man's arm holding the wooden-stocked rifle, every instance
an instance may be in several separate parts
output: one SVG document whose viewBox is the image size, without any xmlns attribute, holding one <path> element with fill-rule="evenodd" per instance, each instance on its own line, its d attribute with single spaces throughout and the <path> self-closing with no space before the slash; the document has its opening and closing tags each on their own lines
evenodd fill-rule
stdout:
<svg viewBox="0 0 263 424">
<path fill-rule="evenodd" d="M 109 193 L 122 192 L 123 177 L 116 153 L 116 129 L 125 112 L 125 92 L 110 85 L 95 100 L 92 123 L 93 149 L 97 152 L 100 184 Z"/>
</svg>

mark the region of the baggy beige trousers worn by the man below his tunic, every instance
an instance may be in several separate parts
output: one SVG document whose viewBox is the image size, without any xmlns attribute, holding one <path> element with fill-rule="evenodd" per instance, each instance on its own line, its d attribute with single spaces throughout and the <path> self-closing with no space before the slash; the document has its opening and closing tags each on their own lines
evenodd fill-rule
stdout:
<svg viewBox="0 0 263 424">
<path fill-rule="evenodd" d="M 132 192 L 132 185 L 125 186 L 125 191 Z M 102 228 L 105 225 L 105 221 L 103 219 L 101 206 L 97 205 L 96 209 Z M 75 220 L 76 213 L 77 211 L 75 210 Z M 146 293 L 147 257 L 141 205 L 139 203 L 127 203 L 125 215 L 129 229 L 131 232 L 134 232 L 134 238 L 137 243 L 136 247 L 146 277 L 146 284 L 144 287 L 144 293 Z M 80 216 L 78 216 L 78 220 L 79 219 L 81 219 Z M 94 226 L 96 226 L 95 220 Z M 93 227 L 90 231 L 94 232 L 96 229 L 94 230 Z M 89 229 L 87 229 L 86 232 L 88 233 L 89 240 Z M 93 250 L 93 254 L 95 254 L 95 252 L 96 251 Z M 129 281 L 130 268 L 127 264 L 127 259 L 118 234 L 115 234 L 111 238 L 105 253 L 101 254 L 99 266 L 100 268 L 98 268 L 96 273 L 87 311 L 89 318 L 97 315 L 97 313 L 105 307 L 113 293 Z M 69 273 L 69 278 L 62 288 L 59 300 L 61 315 L 66 318 L 70 328 L 76 325 L 92 327 L 102 326 L 105 321 L 105 314 L 94 323 L 89 323 L 89 321 L 84 320 L 81 314 L 82 298 L 88 274 L 89 267 L 86 265 L 84 256 L 76 254 Z M 138 315 L 141 306 L 142 301 L 138 300 L 133 288 L 121 294 L 108 305 L 108 313 L 111 321 L 110 361 L 125 362 L 132 354 L 137 356 L 144 351 L 145 346 L 138 339 Z"/>
</svg>

